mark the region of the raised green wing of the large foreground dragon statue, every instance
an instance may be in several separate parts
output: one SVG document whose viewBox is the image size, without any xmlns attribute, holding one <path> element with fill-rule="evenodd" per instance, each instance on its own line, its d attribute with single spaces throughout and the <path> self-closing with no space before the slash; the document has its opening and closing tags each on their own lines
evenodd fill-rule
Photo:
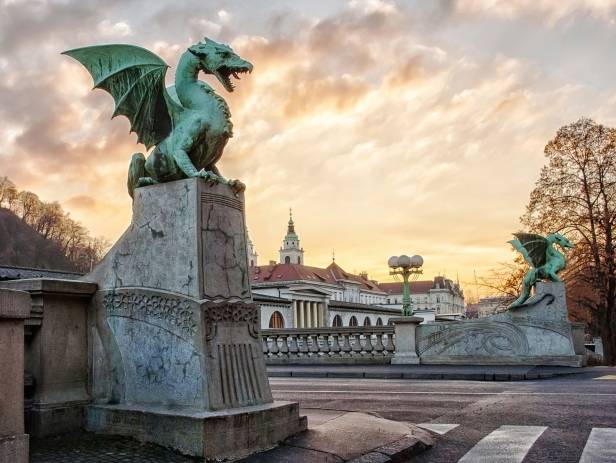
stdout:
<svg viewBox="0 0 616 463">
<path fill-rule="evenodd" d="M 94 88 L 113 97 L 112 118 L 126 116 L 139 143 L 149 149 L 169 135 L 179 108 L 165 90 L 169 66 L 161 58 L 144 48 L 120 44 L 75 48 L 63 54 L 85 66 Z"/>
</svg>

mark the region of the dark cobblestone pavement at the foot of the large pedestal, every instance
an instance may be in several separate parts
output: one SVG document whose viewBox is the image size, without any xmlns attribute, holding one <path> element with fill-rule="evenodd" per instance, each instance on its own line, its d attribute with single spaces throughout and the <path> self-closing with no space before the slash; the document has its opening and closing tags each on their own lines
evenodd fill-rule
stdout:
<svg viewBox="0 0 616 463">
<path fill-rule="evenodd" d="M 30 441 L 31 463 L 195 463 L 153 444 L 120 436 L 80 433 Z"/>
</svg>

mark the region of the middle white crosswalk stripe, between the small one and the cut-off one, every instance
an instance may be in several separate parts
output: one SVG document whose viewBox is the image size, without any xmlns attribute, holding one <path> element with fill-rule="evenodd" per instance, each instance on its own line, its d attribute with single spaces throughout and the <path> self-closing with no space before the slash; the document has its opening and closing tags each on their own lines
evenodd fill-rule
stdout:
<svg viewBox="0 0 616 463">
<path fill-rule="evenodd" d="M 545 426 L 501 426 L 481 439 L 458 463 L 520 463 Z"/>
</svg>

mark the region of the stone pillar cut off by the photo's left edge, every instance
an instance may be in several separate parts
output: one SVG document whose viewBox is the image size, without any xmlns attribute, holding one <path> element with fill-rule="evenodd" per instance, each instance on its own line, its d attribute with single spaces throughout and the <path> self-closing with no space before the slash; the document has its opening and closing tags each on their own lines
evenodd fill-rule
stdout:
<svg viewBox="0 0 616 463">
<path fill-rule="evenodd" d="M 0 461 L 28 462 L 24 434 L 24 319 L 30 296 L 0 289 Z"/>
</svg>

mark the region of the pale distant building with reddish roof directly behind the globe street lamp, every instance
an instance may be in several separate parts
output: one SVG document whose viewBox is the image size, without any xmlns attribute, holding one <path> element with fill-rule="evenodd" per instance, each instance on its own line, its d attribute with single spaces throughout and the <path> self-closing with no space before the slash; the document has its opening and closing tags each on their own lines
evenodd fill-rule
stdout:
<svg viewBox="0 0 616 463">
<path fill-rule="evenodd" d="M 464 292 L 458 283 L 437 276 L 432 281 L 411 281 L 409 286 L 413 311 L 433 312 L 435 316 L 464 314 Z M 402 309 L 402 282 L 380 283 L 379 287 L 387 293 L 384 307 Z"/>
</svg>

